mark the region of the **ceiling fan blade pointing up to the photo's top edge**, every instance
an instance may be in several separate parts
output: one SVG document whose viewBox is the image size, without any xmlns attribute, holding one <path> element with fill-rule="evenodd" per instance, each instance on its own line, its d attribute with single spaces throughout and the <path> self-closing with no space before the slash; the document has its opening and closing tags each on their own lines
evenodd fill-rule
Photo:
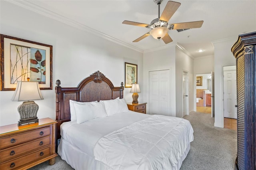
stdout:
<svg viewBox="0 0 256 170">
<path fill-rule="evenodd" d="M 176 10 L 180 7 L 179 2 L 168 1 L 164 11 L 160 17 L 160 20 L 168 22 Z"/>
</svg>

